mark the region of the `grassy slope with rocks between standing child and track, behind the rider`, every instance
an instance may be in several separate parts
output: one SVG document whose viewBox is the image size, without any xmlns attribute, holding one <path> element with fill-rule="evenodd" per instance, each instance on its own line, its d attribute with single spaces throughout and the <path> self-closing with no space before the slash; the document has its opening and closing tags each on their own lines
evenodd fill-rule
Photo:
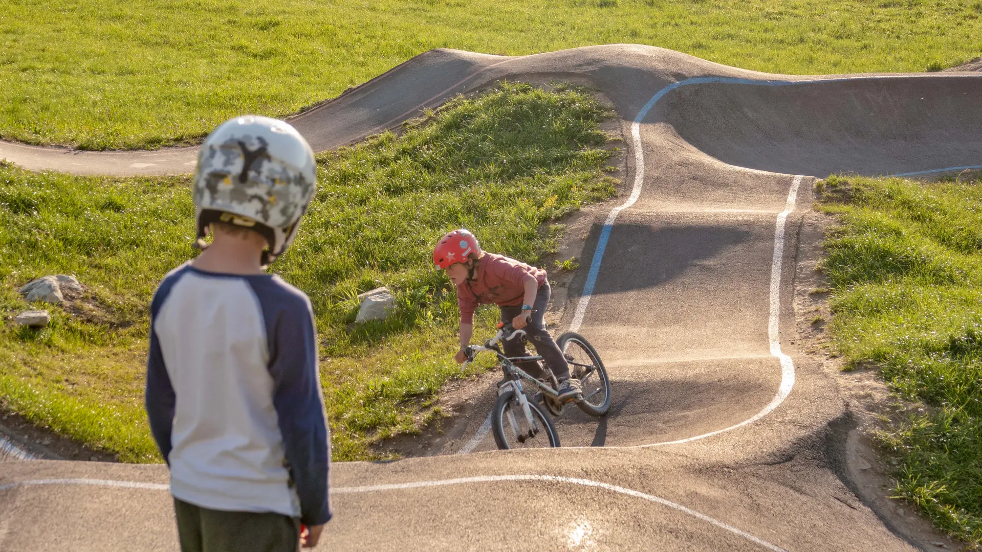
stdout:
<svg viewBox="0 0 982 552">
<path fill-rule="evenodd" d="M 401 137 L 319 159 L 319 189 L 274 272 L 313 303 L 335 457 L 440 416 L 444 382 L 466 376 L 457 302 L 430 251 L 467 226 L 490 251 L 535 263 L 555 248 L 539 227 L 610 197 L 612 115 L 580 89 L 504 84 L 458 98 Z M 147 307 L 156 282 L 191 257 L 190 179 L 36 174 L 0 166 L 0 400 L 8 409 L 128 462 L 157 460 L 142 412 Z M 88 286 L 50 308 L 42 330 L 14 326 L 17 288 L 47 274 Z M 388 285 L 399 304 L 354 326 L 356 294 Z M 489 330 L 491 309 L 479 313 Z M 479 369 L 471 369 L 477 371 Z"/>
</svg>

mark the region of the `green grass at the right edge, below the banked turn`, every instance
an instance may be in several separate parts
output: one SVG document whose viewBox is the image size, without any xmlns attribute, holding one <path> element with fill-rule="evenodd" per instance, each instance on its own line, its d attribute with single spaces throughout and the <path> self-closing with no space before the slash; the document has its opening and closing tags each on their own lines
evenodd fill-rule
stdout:
<svg viewBox="0 0 982 552">
<path fill-rule="evenodd" d="M 962 178 L 962 180 L 965 180 Z M 925 408 L 879 439 L 896 495 L 982 547 L 982 179 L 820 182 L 835 343 Z"/>
</svg>

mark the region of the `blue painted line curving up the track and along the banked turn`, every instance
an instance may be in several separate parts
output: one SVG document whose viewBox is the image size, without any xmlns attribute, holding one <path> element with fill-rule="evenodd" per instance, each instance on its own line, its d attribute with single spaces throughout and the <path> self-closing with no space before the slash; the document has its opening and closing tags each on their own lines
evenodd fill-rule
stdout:
<svg viewBox="0 0 982 552">
<path fill-rule="evenodd" d="M 583 316 L 586 312 L 586 304 L 589 302 L 590 296 L 593 295 L 593 288 L 597 283 L 597 277 L 600 276 L 600 265 L 603 262 L 604 252 L 607 250 L 607 242 L 610 241 L 611 230 L 614 227 L 614 222 L 617 220 L 618 215 L 621 211 L 627 209 L 637 201 L 637 197 L 641 193 L 641 186 L 643 185 L 644 177 L 644 157 L 643 153 L 640 151 L 640 130 L 639 125 L 647 117 L 648 112 L 651 108 L 655 107 L 655 104 L 659 100 L 665 97 L 666 94 L 689 84 L 749 84 L 752 86 L 793 86 L 795 84 L 818 84 L 824 82 L 845 82 L 849 80 L 891 80 L 896 78 L 911 79 L 911 78 L 982 78 L 982 75 L 871 75 L 871 76 L 844 76 L 839 78 L 810 78 L 805 80 L 755 80 L 752 78 L 739 78 L 736 76 L 694 76 L 692 78 L 686 78 L 678 82 L 673 82 L 668 86 L 665 86 L 661 90 L 655 92 L 655 95 L 651 96 L 640 111 L 637 112 L 637 116 L 634 117 L 634 121 L 631 125 L 631 134 L 638 132 L 634 143 L 634 159 L 637 163 L 634 166 L 634 190 L 630 194 L 630 199 L 619 207 L 615 207 L 611 214 L 607 217 L 607 221 L 604 224 L 603 230 L 600 232 L 600 239 L 597 240 L 597 248 L 593 253 L 593 261 L 590 263 L 590 272 L 586 276 L 586 283 L 583 285 L 583 292 L 579 297 L 579 305 L 576 307 L 576 313 L 573 316 L 573 325 L 571 329 L 576 331 L 579 325 L 582 323 Z M 915 173 L 903 173 L 894 176 L 918 176 L 918 175 L 930 175 L 933 173 L 946 173 L 949 171 L 963 171 L 965 169 L 982 169 L 982 166 L 972 166 L 972 167 L 951 167 L 948 169 L 932 169 L 929 171 L 918 171 Z M 637 178 L 641 178 L 642 181 L 638 182 Z"/>
</svg>

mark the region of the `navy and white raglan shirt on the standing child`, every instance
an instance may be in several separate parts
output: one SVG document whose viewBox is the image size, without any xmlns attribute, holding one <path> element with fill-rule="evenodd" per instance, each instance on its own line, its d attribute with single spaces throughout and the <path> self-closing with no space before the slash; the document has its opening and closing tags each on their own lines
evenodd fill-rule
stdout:
<svg viewBox="0 0 982 552">
<path fill-rule="evenodd" d="M 273 275 L 186 264 L 150 306 L 146 412 L 171 493 L 307 526 L 331 518 L 331 462 L 310 301 Z"/>
</svg>

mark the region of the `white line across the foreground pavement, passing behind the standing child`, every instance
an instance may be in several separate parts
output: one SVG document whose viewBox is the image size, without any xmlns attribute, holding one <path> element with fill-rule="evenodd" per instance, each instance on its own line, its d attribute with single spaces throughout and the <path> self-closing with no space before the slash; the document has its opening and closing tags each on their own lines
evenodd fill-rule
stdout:
<svg viewBox="0 0 982 552">
<path fill-rule="evenodd" d="M 772 550 L 774 552 L 788 552 L 787 550 L 781 548 L 776 544 L 772 544 L 744 530 L 723 523 L 715 518 L 710 518 L 709 516 L 701 512 L 696 512 L 695 510 L 682 506 L 682 504 L 672 502 L 671 500 L 667 500 L 660 496 L 655 496 L 653 494 L 648 494 L 645 492 L 629 489 L 627 487 L 622 487 L 619 485 L 613 485 L 601 481 L 594 481 L 593 479 L 581 479 L 579 477 L 539 476 L 539 475 L 458 477 L 454 479 L 436 479 L 430 481 L 409 481 L 405 483 L 387 483 L 387 484 L 364 485 L 364 486 L 354 486 L 354 487 L 335 487 L 331 489 L 331 492 L 336 494 L 355 494 L 355 493 L 362 493 L 362 492 L 406 490 L 406 489 L 415 489 L 415 488 L 460 485 L 460 484 L 467 484 L 467 483 L 491 483 L 491 482 L 503 482 L 503 481 L 506 482 L 507 481 L 547 481 L 547 482 L 568 483 L 573 485 L 602 488 L 604 490 L 609 490 L 627 496 L 640 498 L 642 500 L 647 500 L 648 502 L 654 502 L 655 504 L 660 504 L 662 506 L 672 508 L 673 510 L 682 512 L 682 514 L 691 516 L 697 520 L 700 520 L 712 526 L 719 527 L 721 529 L 732 532 L 737 536 L 743 537 L 755 544 L 759 544 L 760 546 L 768 550 Z M 27 486 L 27 485 L 98 485 L 98 486 L 149 489 L 149 490 L 170 489 L 169 485 L 165 485 L 161 483 L 143 483 L 139 481 L 117 481 L 113 479 L 28 479 L 26 481 L 16 481 L 5 485 L 0 485 L 0 491 L 15 488 L 15 487 L 20 487 L 20 486 Z"/>
</svg>

